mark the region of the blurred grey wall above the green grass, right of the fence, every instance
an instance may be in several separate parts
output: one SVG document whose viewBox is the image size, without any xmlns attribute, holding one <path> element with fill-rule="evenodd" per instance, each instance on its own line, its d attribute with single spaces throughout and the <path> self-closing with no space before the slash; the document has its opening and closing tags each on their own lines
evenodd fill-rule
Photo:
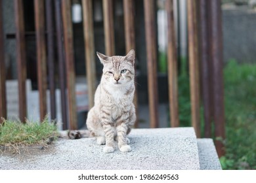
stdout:
<svg viewBox="0 0 256 183">
<path fill-rule="evenodd" d="M 223 10 L 224 61 L 256 63 L 256 11 L 247 8 Z"/>
</svg>

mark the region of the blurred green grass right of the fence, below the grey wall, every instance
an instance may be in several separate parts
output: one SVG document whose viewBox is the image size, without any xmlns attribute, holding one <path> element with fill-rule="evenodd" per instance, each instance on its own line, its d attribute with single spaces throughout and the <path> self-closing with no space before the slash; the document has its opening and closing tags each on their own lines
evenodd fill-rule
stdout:
<svg viewBox="0 0 256 183">
<path fill-rule="evenodd" d="M 256 65 L 224 68 L 226 154 L 223 169 L 256 169 Z"/>
</svg>

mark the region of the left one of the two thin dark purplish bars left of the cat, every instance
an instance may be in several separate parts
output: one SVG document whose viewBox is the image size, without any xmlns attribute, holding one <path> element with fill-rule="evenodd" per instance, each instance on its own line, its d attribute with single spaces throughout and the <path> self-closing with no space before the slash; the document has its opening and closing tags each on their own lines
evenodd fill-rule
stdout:
<svg viewBox="0 0 256 183">
<path fill-rule="evenodd" d="M 53 25 L 53 1 L 46 1 L 46 23 L 47 23 L 47 64 L 49 72 L 49 88 L 51 103 L 51 120 L 56 119 L 56 97 L 54 79 L 54 25 Z"/>
</svg>

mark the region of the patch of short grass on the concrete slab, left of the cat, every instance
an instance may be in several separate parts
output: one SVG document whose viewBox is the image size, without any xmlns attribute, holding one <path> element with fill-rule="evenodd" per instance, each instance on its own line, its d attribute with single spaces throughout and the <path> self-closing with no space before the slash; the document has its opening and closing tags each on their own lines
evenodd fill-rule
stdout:
<svg viewBox="0 0 256 183">
<path fill-rule="evenodd" d="M 56 125 L 47 119 L 37 122 L 13 122 L 4 120 L 0 125 L 0 146 L 17 147 L 40 144 L 46 146 L 58 137 Z"/>
</svg>

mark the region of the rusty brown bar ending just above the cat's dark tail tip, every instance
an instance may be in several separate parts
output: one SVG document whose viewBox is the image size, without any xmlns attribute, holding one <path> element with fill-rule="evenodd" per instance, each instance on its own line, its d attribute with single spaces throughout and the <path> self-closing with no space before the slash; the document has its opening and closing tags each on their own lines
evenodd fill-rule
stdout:
<svg viewBox="0 0 256 183">
<path fill-rule="evenodd" d="M 77 129 L 77 112 L 75 104 L 74 43 L 70 0 L 62 1 L 62 20 L 67 69 L 66 80 L 68 86 L 68 119 L 70 129 Z"/>
</svg>

